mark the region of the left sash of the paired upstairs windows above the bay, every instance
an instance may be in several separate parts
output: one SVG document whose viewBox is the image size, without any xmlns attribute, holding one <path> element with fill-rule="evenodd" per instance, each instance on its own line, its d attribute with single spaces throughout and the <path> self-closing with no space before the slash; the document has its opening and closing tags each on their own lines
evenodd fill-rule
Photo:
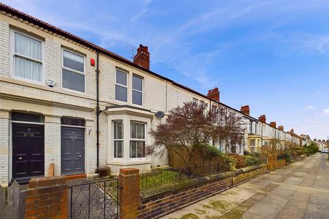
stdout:
<svg viewBox="0 0 329 219">
<path fill-rule="evenodd" d="M 117 79 L 115 83 L 115 99 L 117 101 L 127 102 L 127 73 L 117 69 Z"/>
</svg>

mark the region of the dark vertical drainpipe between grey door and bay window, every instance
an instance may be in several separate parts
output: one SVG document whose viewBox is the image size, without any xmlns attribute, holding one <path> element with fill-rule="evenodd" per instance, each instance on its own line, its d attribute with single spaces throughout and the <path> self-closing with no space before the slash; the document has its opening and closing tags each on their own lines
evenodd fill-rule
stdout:
<svg viewBox="0 0 329 219">
<path fill-rule="evenodd" d="M 96 51 L 97 57 L 96 57 L 96 120 L 97 120 L 97 131 L 96 131 L 96 136 L 97 136 L 97 169 L 96 172 L 98 173 L 98 168 L 99 168 L 99 51 Z"/>
</svg>

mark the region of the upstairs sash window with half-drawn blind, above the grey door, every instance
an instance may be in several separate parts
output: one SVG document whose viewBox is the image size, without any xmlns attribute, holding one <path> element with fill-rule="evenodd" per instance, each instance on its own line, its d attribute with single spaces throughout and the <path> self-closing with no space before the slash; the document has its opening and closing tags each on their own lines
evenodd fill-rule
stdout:
<svg viewBox="0 0 329 219">
<path fill-rule="evenodd" d="M 62 88 L 85 92 L 84 56 L 63 49 Z"/>
</svg>

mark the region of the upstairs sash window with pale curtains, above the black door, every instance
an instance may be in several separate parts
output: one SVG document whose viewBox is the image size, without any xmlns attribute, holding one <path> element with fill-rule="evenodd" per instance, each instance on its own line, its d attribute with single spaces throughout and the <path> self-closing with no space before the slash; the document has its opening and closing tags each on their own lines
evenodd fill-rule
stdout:
<svg viewBox="0 0 329 219">
<path fill-rule="evenodd" d="M 14 76 L 42 82 L 42 42 L 13 31 Z"/>
</svg>

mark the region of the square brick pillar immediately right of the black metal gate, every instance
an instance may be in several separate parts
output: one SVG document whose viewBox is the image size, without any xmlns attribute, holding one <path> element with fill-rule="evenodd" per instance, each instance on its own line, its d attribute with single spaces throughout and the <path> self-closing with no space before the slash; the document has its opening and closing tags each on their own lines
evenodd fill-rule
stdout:
<svg viewBox="0 0 329 219">
<path fill-rule="evenodd" d="M 120 169 L 119 209 L 121 219 L 134 219 L 138 216 L 140 205 L 139 170 L 136 168 Z"/>
</svg>

